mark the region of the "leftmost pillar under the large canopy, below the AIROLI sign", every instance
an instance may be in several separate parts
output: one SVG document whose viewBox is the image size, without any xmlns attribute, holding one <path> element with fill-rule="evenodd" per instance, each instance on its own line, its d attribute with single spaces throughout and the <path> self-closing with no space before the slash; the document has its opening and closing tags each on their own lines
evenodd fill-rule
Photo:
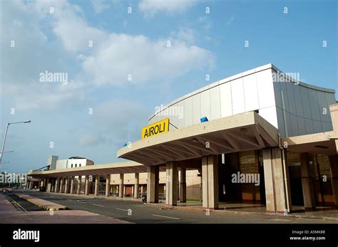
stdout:
<svg viewBox="0 0 338 247">
<path fill-rule="evenodd" d="M 148 166 L 147 202 L 158 203 L 160 167 Z"/>
</svg>

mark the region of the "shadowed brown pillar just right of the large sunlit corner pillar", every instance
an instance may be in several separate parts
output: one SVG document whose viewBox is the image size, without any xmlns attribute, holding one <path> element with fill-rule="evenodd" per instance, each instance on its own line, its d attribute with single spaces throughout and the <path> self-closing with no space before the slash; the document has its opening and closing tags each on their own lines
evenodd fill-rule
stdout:
<svg viewBox="0 0 338 247">
<path fill-rule="evenodd" d="M 316 201 L 314 199 L 313 172 L 309 165 L 309 153 L 303 152 L 299 154 L 300 170 L 302 173 L 302 190 L 304 197 L 305 210 L 315 209 Z"/>
</svg>

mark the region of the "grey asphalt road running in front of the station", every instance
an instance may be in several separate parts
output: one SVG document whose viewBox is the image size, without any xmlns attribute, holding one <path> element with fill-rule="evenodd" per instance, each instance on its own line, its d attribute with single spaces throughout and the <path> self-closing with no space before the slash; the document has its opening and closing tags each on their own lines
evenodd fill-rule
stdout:
<svg viewBox="0 0 338 247">
<path fill-rule="evenodd" d="M 133 223 L 142 224 L 323 224 L 336 223 L 319 219 L 299 219 L 285 216 L 262 216 L 250 214 L 233 214 L 205 211 L 188 211 L 182 209 L 160 209 L 158 206 L 143 204 L 141 201 L 124 201 L 114 199 L 88 199 L 63 194 L 43 194 L 25 191 L 47 201 L 67 206 L 68 209 L 90 211 L 96 214 L 111 216 Z"/>
</svg>

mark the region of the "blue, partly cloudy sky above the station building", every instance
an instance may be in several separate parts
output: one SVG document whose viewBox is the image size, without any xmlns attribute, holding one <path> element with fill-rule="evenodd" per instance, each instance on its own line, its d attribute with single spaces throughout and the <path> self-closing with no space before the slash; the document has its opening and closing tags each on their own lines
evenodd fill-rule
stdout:
<svg viewBox="0 0 338 247">
<path fill-rule="evenodd" d="M 117 150 L 140 140 L 155 107 L 267 63 L 338 90 L 333 0 L 0 0 L 0 9 L 1 142 L 7 122 L 32 121 L 9 126 L 14 152 L 1 172 L 39 169 L 51 155 L 121 161 Z"/>
</svg>

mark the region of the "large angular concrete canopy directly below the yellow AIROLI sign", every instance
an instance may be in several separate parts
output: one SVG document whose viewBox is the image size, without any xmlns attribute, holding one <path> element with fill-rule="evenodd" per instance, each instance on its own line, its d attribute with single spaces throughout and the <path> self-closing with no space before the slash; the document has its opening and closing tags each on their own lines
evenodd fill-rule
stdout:
<svg viewBox="0 0 338 247">
<path fill-rule="evenodd" d="M 202 122 L 133 142 L 119 158 L 147 165 L 278 146 L 278 130 L 256 112 Z"/>
</svg>

